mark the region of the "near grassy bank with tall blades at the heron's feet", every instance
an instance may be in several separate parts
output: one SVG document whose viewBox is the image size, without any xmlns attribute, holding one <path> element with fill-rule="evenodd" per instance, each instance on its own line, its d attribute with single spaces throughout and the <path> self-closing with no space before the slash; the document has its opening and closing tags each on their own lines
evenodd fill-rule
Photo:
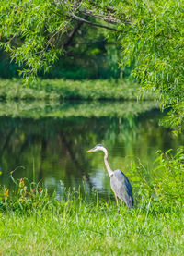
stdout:
<svg viewBox="0 0 184 256">
<path fill-rule="evenodd" d="M 21 190 L 21 189 L 19 189 Z M 1 255 L 183 255 L 182 207 L 142 198 L 132 210 L 45 191 L 1 203 Z M 94 196 L 95 198 L 95 196 Z"/>
</svg>

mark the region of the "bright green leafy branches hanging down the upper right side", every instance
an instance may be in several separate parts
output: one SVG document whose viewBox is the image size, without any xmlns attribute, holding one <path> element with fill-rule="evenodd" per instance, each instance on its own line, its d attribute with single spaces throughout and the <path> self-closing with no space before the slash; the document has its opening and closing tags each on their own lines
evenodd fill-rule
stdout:
<svg viewBox="0 0 184 256">
<path fill-rule="evenodd" d="M 121 26 L 123 64 L 135 59 L 134 76 L 173 107 L 172 125 L 183 120 L 184 2 L 131 1 L 119 7 L 130 25 Z M 171 121 L 170 119 L 170 121 Z"/>
</svg>

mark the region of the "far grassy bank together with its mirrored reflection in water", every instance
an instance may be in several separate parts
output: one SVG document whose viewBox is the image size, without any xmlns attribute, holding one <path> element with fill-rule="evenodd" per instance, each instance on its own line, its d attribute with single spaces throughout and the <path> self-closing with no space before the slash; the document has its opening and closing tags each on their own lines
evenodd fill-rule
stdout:
<svg viewBox="0 0 184 256">
<path fill-rule="evenodd" d="M 159 108 L 154 92 L 145 93 L 126 79 L 40 79 L 29 87 L 20 79 L 1 79 L 0 99 L 0 116 L 37 119 L 126 117 Z"/>
</svg>

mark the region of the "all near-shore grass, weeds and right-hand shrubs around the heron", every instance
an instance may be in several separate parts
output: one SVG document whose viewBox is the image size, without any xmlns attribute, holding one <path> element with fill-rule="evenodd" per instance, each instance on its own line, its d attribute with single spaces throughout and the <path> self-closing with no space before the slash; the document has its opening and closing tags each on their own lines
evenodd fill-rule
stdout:
<svg viewBox="0 0 184 256">
<path fill-rule="evenodd" d="M 158 152 L 152 184 L 134 165 L 134 182 L 139 181 L 133 190 L 136 203 L 132 210 L 122 203 L 119 212 L 113 198 L 98 200 L 95 191 L 90 199 L 80 189 L 49 196 L 40 184 L 12 177 L 14 192 L 1 188 L 1 252 L 182 255 L 184 191 L 176 176 L 183 172 L 183 157 L 183 148 L 176 154 Z"/>
</svg>

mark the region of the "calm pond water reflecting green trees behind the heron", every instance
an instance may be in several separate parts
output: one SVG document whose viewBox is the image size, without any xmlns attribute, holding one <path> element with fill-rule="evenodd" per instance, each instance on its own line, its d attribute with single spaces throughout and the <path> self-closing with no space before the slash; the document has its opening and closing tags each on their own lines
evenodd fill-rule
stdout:
<svg viewBox="0 0 184 256">
<path fill-rule="evenodd" d="M 14 177 L 32 180 L 34 169 L 36 180 L 58 195 L 63 186 L 79 185 L 88 193 L 97 189 L 109 195 L 103 152 L 87 150 L 103 144 L 111 168 L 120 168 L 132 181 L 132 160 L 140 159 L 151 178 L 155 152 L 184 142 L 182 135 L 159 127 L 163 115 L 153 103 L 12 104 L 0 104 L 0 183 L 8 188 L 9 172 L 21 165 Z"/>
</svg>

